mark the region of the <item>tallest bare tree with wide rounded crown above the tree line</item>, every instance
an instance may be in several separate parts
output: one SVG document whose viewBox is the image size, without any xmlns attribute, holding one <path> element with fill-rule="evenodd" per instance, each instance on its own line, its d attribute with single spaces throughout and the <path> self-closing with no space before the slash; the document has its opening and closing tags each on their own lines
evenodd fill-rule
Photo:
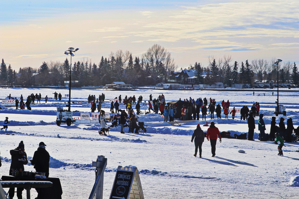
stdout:
<svg viewBox="0 0 299 199">
<path fill-rule="evenodd" d="M 142 60 L 154 84 L 162 76 L 166 77 L 168 72 L 176 69 L 176 64 L 174 59 L 171 58 L 171 53 L 158 44 L 154 44 L 147 49 L 147 52 L 142 54 Z"/>
</svg>

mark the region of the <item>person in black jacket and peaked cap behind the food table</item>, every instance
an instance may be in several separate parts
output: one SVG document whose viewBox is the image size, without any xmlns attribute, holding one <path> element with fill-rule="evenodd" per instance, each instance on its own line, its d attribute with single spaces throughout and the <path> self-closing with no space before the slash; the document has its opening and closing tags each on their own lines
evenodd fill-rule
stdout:
<svg viewBox="0 0 299 199">
<path fill-rule="evenodd" d="M 39 143 L 39 147 L 34 152 L 32 160 L 30 160 L 31 164 L 34 165 L 34 169 L 36 172 L 45 172 L 46 177 L 49 177 L 49 161 L 50 155 L 48 151 L 46 151 L 46 147 L 44 142 Z"/>
</svg>

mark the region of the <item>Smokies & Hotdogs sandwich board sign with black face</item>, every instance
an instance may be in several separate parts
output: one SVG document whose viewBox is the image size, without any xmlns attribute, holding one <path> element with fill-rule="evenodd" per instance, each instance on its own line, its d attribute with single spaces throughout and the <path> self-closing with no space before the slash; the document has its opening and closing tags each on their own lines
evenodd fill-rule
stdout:
<svg viewBox="0 0 299 199">
<path fill-rule="evenodd" d="M 144 199 L 141 181 L 136 167 L 118 166 L 110 199 Z"/>
</svg>

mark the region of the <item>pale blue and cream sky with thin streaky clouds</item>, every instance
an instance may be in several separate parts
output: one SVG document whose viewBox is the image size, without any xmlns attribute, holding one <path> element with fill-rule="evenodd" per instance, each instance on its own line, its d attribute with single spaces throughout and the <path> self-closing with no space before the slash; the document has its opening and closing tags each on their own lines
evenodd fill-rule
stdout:
<svg viewBox="0 0 299 199">
<path fill-rule="evenodd" d="M 209 57 L 233 61 L 299 58 L 299 1 L 1 1 L 0 58 L 14 70 L 70 58 L 98 64 L 159 44 L 178 68 Z M 233 63 L 232 63 L 233 64 Z"/>
</svg>

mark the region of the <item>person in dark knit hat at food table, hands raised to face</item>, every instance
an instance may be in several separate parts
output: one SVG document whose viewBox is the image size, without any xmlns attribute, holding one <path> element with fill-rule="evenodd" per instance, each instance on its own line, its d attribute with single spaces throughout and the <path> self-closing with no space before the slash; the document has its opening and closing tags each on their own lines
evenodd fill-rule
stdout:
<svg viewBox="0 0 299 199">
<path fill-rule="evenodd" d="M 25 145 L 23 141 L 19 143 L 19 146 L 16 149 L 10 150 L 11 155 L 11 163 L 10 163 L 10 169 L 9 169 L 9 175 L 13 175 L 13 169 L 15 171 L 24 171 L 24 165 L 28 163 L 27 161 L 27 154 L 25 152 Z M 18 199 L 22 199 L 22 191 L 24 188 L 17 188 L 17 197 Z M 15 188 L 11 187 L 8 191 L 9 198 L 13 198 L 15 195 Z"/>
</svg>

